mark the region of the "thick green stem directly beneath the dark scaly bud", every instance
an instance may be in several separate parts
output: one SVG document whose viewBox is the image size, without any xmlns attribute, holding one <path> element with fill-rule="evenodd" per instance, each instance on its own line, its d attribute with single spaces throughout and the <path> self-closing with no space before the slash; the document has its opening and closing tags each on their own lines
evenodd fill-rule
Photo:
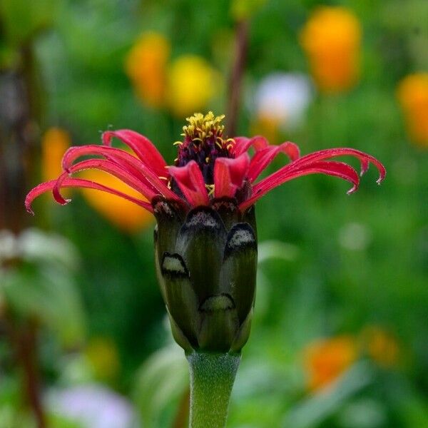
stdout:
<svg viewBox="0 0 428 428">
<path fill-rule="evenodd" d="M 240 355 L 193 352 L 187 358 L 190 368 L 189 427 L 225 427 Z"/>
</svg>

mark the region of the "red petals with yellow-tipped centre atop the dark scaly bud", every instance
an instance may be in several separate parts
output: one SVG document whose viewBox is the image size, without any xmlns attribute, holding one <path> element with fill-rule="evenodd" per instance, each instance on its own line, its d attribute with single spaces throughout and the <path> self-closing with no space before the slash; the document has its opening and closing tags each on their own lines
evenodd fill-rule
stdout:
<svg viewBox="0 0 428 428">
<path fill-rule="evenodd" d="M 223 118 L 213 116 L 212 112 L 205 116 L 196 113 L 188 118 L 189 124 L 183 127 L 184 141 L 178 143 L 178 158 L 171 166 L 166 165 L 161 153 L 148 138 L 126 129 L 103 133 L 103 146 L 69 148 L 63 156 L 64 172 L 57 180 L 31 190 L 26 198 L 26 207 L 31 211 L 32 200 L 49 190 L 58 203 L 65 204 L 68 201 L 62 197 L 61 188 L 81 186 L 113 193 L 152 212 L 150 202 L 156 195 L 169 200 L 185 200 L 188 208 L 210 205 L 213 198 L 238 198 L 240 210 L 244 211 L 273 188 L 302 175 L 322 173 L 339 177 L 352 183 L 348 193 L 355 192 L 360 177 L 347 163 L 331 160 L 338 156 L 357 158 L 361 163 L 361 175 L 373 163 L 379 170 L 377 183 L 386 174 L 384 166 L 376 158 L 353 148 L 332 148 L 300 157 L 298 146 L 290 141 L 270 146 L 262 136 L 223 138 L 224 126 L 220 123 Z M 111 147 L 113 137 L 123 141 L 136 156 Z M 248 151 L 254 151 L 251 159 Z M 279 153 L 284 153 L 291 162 L 255 183 Z M 81 156 L 96 158 L 73 164 Z M 123 181 L 148 202 L 101 183 L 69 178 L 73 173 L 92 168 L 103 170 Z"/>
</svg>

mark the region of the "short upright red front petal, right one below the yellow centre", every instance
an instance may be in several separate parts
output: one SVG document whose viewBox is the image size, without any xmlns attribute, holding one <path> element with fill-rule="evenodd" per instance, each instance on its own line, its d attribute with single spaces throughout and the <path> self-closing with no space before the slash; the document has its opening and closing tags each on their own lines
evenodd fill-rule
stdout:
<svg viewBox="0 0 428 428">
<path fill-rule="evenodd" d="M 217 158 L 214 164 L 215 198 L 233 198 L 236 190 L 243 187 L 249 166 L 248 153 L 243 153 L 235 159 Z"/>
</svg>

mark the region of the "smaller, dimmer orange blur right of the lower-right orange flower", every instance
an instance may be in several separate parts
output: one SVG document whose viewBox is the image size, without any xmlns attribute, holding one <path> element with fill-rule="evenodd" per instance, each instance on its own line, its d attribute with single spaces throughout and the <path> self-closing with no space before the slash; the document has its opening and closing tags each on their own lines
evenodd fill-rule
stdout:
<svg viewBox="0 0 428 428">
<path fill-rule="evenodd" d="M 363 333 L 363 340 L 367 354 L 383 367 L 397 365 L 399 346 L 394 336 L 381 327 L 367 327 Z"/>
</svg>

